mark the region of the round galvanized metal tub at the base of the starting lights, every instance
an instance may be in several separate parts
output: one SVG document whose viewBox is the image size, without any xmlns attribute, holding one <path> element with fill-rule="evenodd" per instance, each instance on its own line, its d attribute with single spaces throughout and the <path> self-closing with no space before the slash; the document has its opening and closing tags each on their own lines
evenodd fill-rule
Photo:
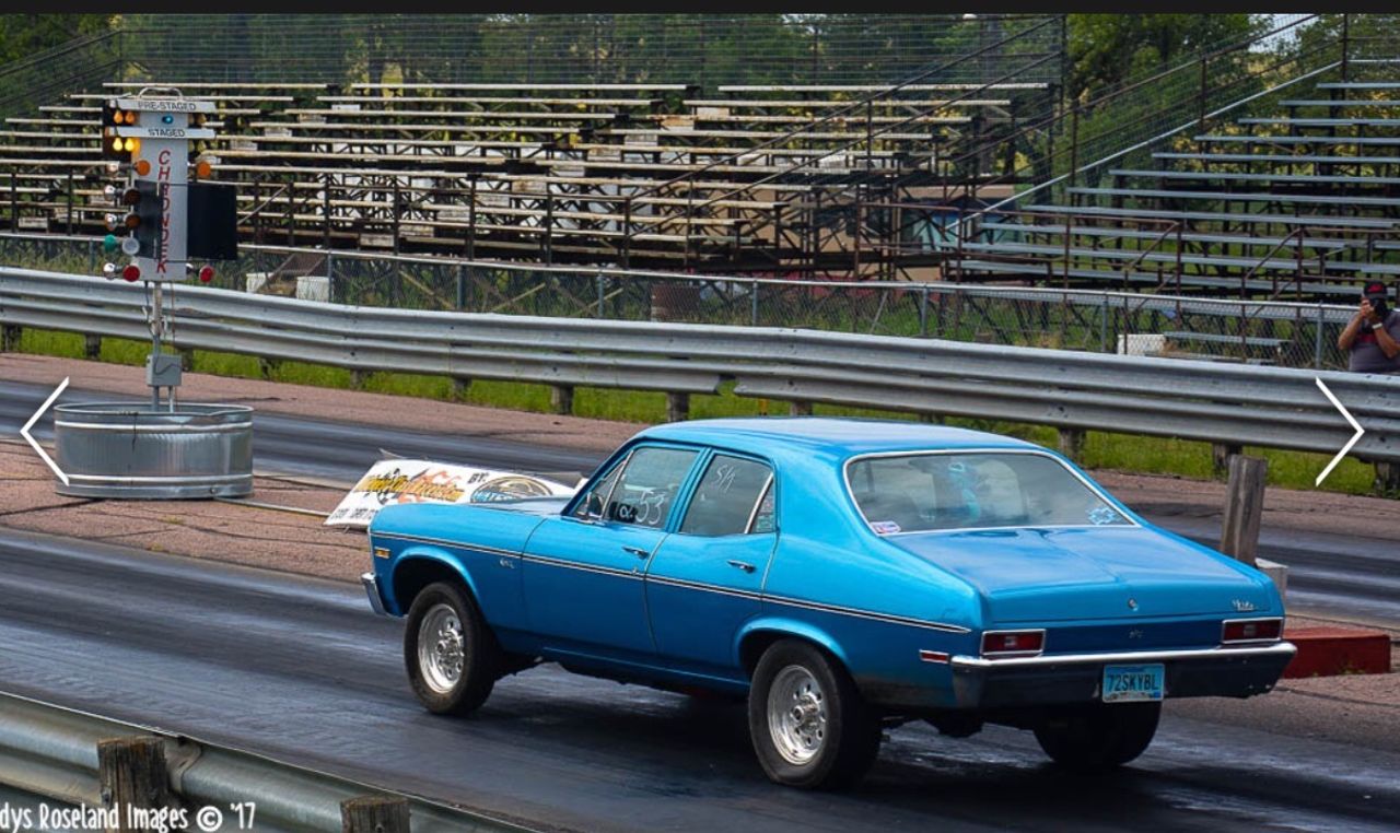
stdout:
<svg viewBox="0 0 1400 833">
<path fill-rule="evenodd" d="M 53 409 L 59 494 L 178 500 L 253 491 L 253 409 L 130 402 Z"/>
</svg>

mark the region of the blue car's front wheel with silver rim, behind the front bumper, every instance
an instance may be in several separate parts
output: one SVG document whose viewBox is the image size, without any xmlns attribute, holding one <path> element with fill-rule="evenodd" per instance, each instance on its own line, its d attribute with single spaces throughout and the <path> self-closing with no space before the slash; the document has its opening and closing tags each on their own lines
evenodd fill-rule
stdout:
<svg viewBox="0 0 1400 833">
<path fill-rule="evenodd" d="M 496 636 L 459 585 L 430 584 L 413 599 L 403 630 L 403 665 L 428 711 L 475 711 L 490 696 L 501 661 Z"/>
</svg>

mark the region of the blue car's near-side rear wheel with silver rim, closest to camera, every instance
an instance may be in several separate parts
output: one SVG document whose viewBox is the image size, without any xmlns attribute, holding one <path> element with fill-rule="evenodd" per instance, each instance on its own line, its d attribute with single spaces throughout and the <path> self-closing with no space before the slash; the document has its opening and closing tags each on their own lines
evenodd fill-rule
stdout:
<svg viewBox="0 0 1400 833">
<path fill-rule="evenodd" d="M 749 736 L 773 781 L 836 790 L 875 763 L 881 722 L 839 662 L 812 644 L 781 640 L 753 671 Z"/>
</svg>

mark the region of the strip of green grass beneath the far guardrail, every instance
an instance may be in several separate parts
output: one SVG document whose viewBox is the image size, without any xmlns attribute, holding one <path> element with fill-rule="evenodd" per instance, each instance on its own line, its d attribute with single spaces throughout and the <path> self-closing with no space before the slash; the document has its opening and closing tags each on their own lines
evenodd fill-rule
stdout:
<svg viewBox="0 0 1400 833">
<path fill-rule="evenodd" d="M 27 328 L 20 339 L 20 351 L 83 358 L 84 339 L 74 333 Z M 144 342 L 102 339 L 99 358 L 115 364 L 140 367 L 146 363 L 148 351 L 150 344 Z M 195 372 L 223 377 L 263 378 L 263 363 L 252 356 L 196 350 L 193 370 Z M 351 372 L 336 367 L 301 361 L 274 361 L 267 363 L 266 371 L 267 378 L 277 382 L 342 389 L 356 386 Z M 361 379 L 360 389 L 398 396 L 452 400 L 452 382 L 445 377 L 371 372 Z M 547 413 L 550 410 L 550 389 L 547 385 L 476 379 L 461 400 L 470 405 Z M 690 398 L 692 419 L 777 416 L 785 413 L 788 413 L 787 402 L 736 396 L 732 391 L 732 384 L 725 384 L 717 395 L 693 395 Z M 815 406 L 813 413 L 900 420 L 918 419 L 917 414 L 910 413 L 829 405 Z M 574 392 L 574 414 L 605 420 L 659 423 L 666 416 L 666 398 L 659 392 L 577 388 Z M 1057 444 L 1056 430 L 1044 426 L 960 417 L 949 417 L 945 421 L 949 426 L 1019 437 L 1047 448 L 1054 448 Z M 1315 489 L 1313 479 L 1330 459 L 1324 454 L 1273 448 L 1246 448 L 1246 452 L 1268 459 L 1268 483 L 1284 489 Z M 1176 475 L 1200 480 L 1212 477 L 1211 445 L 1208 442 L 1187 440 L 1088 431 L 1081 462 L 1091 469 Z M 1372 468 L 1347 458 L 1337 465 L 1336 470 L 1333 470 L 1320 489 L 1347 494 L 1372 494 Z"/>
</svg>

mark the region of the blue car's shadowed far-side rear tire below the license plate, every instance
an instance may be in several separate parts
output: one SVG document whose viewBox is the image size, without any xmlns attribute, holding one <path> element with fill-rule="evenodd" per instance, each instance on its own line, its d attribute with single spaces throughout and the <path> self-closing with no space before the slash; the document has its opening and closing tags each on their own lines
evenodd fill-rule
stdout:
<svg viewBox="0 0 1400 833">
<path fill-rule="evenodd" d="M 1060 766 L 1096 773 L 1142 755 L 1162 714 L 1161 703 L 1093 704 L 1065 710 L 1036 727 L 1036 741 Z"/>
</svg>

